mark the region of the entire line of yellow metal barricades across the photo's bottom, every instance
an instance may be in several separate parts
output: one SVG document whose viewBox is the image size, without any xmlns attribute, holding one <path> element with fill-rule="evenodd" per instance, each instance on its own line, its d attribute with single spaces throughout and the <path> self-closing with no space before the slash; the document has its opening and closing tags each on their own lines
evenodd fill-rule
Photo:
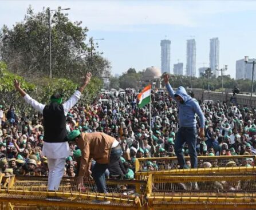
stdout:
<svg viewBox="0 0 256 210">
<path fill-rule="evenodd" d="M 47 177 L 0 173 L 0 209 L 256 209 L 255 157 L 202 156 L 199 165 L 218 167 L 196 169 L 170 169 L 175 157 L 137 159 L 136 180 L 107 179 L 108 193 L 97 193 L 90 179 L 78 190 L 75 177 L 63 177 L 60 189 L 52 192 Z M 164 167 L 145 171 L 147 161 Z M 62 200 L 50 201 L 48 196 Z"/>
</svg>

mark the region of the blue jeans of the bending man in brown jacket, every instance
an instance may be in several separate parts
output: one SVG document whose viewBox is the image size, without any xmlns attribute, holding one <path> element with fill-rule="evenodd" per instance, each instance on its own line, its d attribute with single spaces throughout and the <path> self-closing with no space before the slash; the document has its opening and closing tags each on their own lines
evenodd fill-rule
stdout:
<svg viewBox="0 0 256 210">
<path fill-rule="evenodd" d="M 123 151 L 120 145 L 116 146 L 116 148 L 112 148 L 110 154 L 110 163 L 119 161 L 122 154 Z M 107 168 L 108 164 L 99 164 L 96 162 L 92 169 L 92 176 L 97 186 L 98 192 L 100 193 L 108 193 L 105 180 L 105 171 Z"/>
</svg>

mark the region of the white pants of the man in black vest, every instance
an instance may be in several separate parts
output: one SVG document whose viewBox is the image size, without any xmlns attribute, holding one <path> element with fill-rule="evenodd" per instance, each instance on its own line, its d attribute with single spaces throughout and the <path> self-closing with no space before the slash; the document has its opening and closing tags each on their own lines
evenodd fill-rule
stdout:
<svg viewBox="0 0 256 210">
<path fill-rule="evenodd" d="M 48 190 L 57 191 L 61 183 L 61 178 L 64 174 L 65 158 L 60 159 L 48 159 Z"/>
</svg>

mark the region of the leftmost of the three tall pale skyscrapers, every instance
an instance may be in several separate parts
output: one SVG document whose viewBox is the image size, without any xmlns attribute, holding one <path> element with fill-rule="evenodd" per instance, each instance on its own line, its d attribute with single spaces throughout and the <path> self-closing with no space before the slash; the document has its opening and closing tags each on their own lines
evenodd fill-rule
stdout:
<svg viewBox="0 0 256 210">
<path fill-rule="evenodd" d="M 161 73 L 171 73 L 171 41 L 161 40 Z"/>
</svg>

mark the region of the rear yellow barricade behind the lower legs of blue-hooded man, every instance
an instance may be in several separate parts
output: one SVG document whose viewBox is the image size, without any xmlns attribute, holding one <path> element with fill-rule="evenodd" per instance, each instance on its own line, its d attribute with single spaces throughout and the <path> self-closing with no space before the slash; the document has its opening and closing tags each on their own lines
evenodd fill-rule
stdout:
<svg viewBox="0 0 256 210">
<path fill-rule="evenodd" d="M 190 157 L 185 157 L 190 160 Z M 155 171 L 148 171 L 145 165 L 150 161 L 157 165 Z M 208 163 L 211 168 L 203 168 Z M 196 169 L 179 169 L 176 157 L 154 157 L 136 159 L 135 162 L 135 178 L 136 180 L 147 180 L 150 174 L 201 174 L 201 173 L 250 173 L 256 168 L 256 156 L 199 156 L 198 168 Z"/>
</svg>

